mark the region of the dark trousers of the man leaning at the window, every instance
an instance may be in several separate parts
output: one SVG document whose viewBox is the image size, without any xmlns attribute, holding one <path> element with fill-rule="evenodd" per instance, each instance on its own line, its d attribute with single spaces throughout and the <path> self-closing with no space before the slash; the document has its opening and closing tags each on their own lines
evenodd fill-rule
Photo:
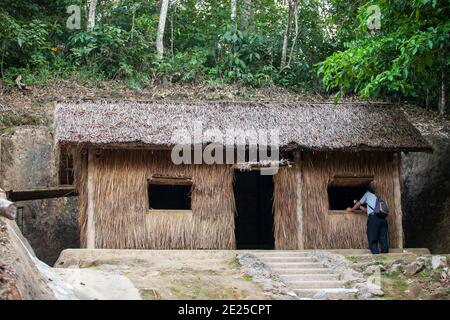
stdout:
<svg viewBox="0 0 450 320">
<path fill-rule="evenodd" d="M 380 218 L 375 214 L 369 215 L 367 218 L 367 239 L 369 241 L 369 249 L 373 254 L 380 253 L 380 249 L 381 253 L 388 253 L 388 225 L 386 219 Z"/>
</svg>

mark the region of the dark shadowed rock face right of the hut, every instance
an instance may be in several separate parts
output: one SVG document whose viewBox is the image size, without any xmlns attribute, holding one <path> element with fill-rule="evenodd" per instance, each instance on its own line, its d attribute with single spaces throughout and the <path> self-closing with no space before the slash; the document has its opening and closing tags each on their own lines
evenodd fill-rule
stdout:
<svg viewBox="0 0 450 320">
<path fill-rule="evenodd" d="M 406 247 L 450 252 L 450 139 L 426 136 L 433 154 L 403 157 L 402 204 Z"/>
</svg>

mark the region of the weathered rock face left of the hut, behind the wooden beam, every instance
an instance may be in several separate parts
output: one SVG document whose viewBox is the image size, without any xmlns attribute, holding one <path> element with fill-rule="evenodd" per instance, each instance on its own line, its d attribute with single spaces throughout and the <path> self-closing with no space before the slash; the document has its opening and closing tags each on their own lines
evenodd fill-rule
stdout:
<svg viewBox="0 0 450 320">
<path fill-rule="evenodd" d="M 0 187 L 5 190 L 56 186 L 58 166 L 47 127 L 23 126 L 1 137 Z M 52 265 L 66 248 L 79 247 L 78 199 L 16 203 L 17 224 L 37 257 Z"/>
</svg>

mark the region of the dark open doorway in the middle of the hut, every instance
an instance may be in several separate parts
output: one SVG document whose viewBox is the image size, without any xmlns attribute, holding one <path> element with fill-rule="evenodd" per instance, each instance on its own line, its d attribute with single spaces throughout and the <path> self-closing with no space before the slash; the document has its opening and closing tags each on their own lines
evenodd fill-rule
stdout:
<svg viewBox="0 0 450 320">
<path fill-rule="evenodd" d="M 273 176 L 235 171 L 234 198 L 237 249 L 274 249 Z"/>
</svg>

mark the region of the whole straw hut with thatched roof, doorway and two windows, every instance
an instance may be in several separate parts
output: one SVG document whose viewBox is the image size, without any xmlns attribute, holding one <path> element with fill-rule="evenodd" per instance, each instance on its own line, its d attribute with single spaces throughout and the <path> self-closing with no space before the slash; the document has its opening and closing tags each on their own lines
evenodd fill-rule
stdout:
<svg viewBox="0 0 450 320">
<path fill-rule="evenodd" d="M 55 110 L 88 248 L 366 248 L 366 216 L 345 208 L 372 181 L 392 211 L 391 247 L 401 248 L 400 152 L 430 151 L 391 105 L 72 101 Z M 174 164 L 174 131 L 198 121 L 278 128 L 282 167 L 262 176 L 258 163 Z"/>
</svg>

